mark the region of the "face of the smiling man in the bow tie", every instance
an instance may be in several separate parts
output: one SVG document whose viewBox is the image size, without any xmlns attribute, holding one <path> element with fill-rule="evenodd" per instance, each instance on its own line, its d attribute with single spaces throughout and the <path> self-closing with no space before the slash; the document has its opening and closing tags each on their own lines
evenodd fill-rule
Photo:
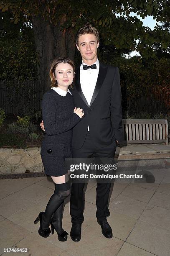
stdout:
<svg viewBox="0 0 170 256">
<path fill-rule="evenodd" d="M 97 48 L 99 47 L 99 42 L 97 43 L 97 38 L 93 34 L 84 34 L 79 36 L 79 45 L 76 45 L 77 49 L 80 51 L 83 61 L 89 62 L 97 59 Z"/>
</svg>

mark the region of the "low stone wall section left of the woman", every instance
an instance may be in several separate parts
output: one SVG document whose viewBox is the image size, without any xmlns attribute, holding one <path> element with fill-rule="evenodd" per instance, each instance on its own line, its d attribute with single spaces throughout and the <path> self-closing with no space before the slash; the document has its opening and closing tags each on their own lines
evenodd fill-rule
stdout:
<svg viewBox="0 0 170 256">
<path fill-rule="evenodd" d="M 41 147 L 0 148 L 0 174 L 24 173 L 27 170 L 43 172 L 40 149 Z"/>
</svg>

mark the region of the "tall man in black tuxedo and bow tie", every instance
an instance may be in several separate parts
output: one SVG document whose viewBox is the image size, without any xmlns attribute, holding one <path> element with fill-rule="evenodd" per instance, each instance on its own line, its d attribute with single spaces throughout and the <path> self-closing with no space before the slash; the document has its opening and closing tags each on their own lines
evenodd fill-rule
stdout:
<svg viewBox="0 0 170 256">
<path fill-rule="evenodd" d="M 83 109 L 84 118 L 73 128 L 73 158 L 88 158 L 93 154 L 114 158 L 117 142 L 123 140 L 119 69 L 97 59 L 99 32 L 90 23 L 79 29 L 76 47 L 82 63 L 76 70 L 71 93 L 75 106 Z M 110 187 L 110 183 L 97 183 L 96 187 L 96 218 L 106 238 L 112 238 L 112 228 L 107 222 Z M 76 242 L 81 239 L 84 221 L 83 189 L 84 183 L 72 183 L 70 236 Z"/>
</svg>

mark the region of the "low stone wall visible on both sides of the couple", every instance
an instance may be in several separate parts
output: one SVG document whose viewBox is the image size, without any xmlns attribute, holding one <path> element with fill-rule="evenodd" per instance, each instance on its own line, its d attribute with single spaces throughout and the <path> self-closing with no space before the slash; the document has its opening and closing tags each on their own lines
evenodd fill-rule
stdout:
<svg viewBox="0 0 170 256">
<path fill-rule="evenodd" d="M 40 155 L 41 147 L 34 148 L 0 148 L 0 174 L 17 174 L 27 172 L 43 172 L 44 167 Z M 145 159 L 145 157 L 146 159 Z M 166 154 L 120 155 L 119 167 L 129 166 L 165 166 Z M 136 158 L 136 159 L 135 159 Z M 155 158 L 155 159 L 153 159 Z"/>
</svg>

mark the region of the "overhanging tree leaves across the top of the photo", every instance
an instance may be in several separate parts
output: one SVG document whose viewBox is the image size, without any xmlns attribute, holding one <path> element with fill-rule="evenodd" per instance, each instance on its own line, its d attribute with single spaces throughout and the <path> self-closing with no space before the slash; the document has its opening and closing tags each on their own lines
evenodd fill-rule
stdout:
<svg viewBox="0 0 170 256">
<path fill-rule="evenodd" d="M 136 49 L 145 58 L 155 56 L 155 42 L 162 49 L 169 47 L 170 33 L 159 26 L 154 31 L 142 26 L 142 21 L 137 17 L 129 16 L 132 12 L 145 18 L 152 15 L 154 19 L 161 22 L 170 21 L 170 10 L 168 0 L 146 1 L 146 0 L 93 0 L 75 1 L 38 1 L 25 0 L 1 2 L 0 9 L 3 12 L 11 12 L 11 22 L 18 24 L 23 17 L 31 22 L 31 16 L 40 15 L 47 21 L 48 26 L 58 27 L 60 21 L 64 20 L 59 29 L 74 33 L 86 21 L 90 21 L 99 30 L 101 40 L 105 46 L 113 45 L 115 51 L 129 53 Z M 65 32 L 64 32 L 65 33 Z M 140 43 L 136 46 L 136 41 Z"/>
</svg>

